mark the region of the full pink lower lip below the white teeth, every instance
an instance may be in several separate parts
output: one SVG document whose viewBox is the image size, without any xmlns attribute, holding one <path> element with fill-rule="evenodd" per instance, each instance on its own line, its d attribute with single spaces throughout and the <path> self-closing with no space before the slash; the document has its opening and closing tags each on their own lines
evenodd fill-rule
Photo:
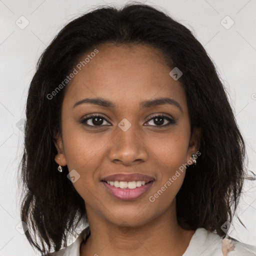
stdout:
<svg viewBox="0 0 256 256">
<path fill-rule="evenodd" d="M 101 181 L 107 191 L 112 194 L 115 198 L 120 200 L 134 200 L 143 195 L 151 187 L 153 181 L 150 181 L 144 185 L 138 186 L 136 188 L 119 188 L 107 184 L 105 181 Z"/>
</svg>

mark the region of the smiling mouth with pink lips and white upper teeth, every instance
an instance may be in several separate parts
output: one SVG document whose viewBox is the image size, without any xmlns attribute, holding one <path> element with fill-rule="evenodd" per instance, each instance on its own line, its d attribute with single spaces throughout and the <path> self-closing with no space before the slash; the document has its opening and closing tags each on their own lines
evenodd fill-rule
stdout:
<svg viewBox="0 0 256 256">
<path fill-rule="evenodd" d="M 154 182 L 154 177 L 140 174 L 114 174 L 104 177 L 101 182 L 106 190 L 120 200 L 134 200 L 144 195 Z"/>
</svg>

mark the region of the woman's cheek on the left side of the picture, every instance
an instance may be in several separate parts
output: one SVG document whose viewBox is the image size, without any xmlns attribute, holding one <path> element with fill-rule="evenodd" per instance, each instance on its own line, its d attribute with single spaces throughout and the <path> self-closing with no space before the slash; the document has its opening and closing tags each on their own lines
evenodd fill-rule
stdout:
<svg viewBox="0 0 256 256">
<path fill-rule="evenodd" d="M 102 147 L 107 140 L 103 138 L 104 136 L 100 137 L 99 134 L 85 133 L 77 127 L 76 129 L 71 126 L 69 128 L 68 125 L 63 128 L 62 133 L 68 171 L 74 169 L 78 173 L 76 174 L 78 178 L 73 182 L 73 186 L 85 202 L 93 204 L 95 183 L 98 182 L 95 170 L 100 167 L 101 154 L 104 149 Z M 100 138 L 95 139 L 95 136 Z"/>
</svg>

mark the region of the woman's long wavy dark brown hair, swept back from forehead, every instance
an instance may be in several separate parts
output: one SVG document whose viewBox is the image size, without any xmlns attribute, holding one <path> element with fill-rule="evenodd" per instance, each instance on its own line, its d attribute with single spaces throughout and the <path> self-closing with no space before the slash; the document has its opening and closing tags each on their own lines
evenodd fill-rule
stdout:
<svg viewBox="0 0 256 256">
<path fill-rule="evenodd" d="M 20 162 L 21 220 L 29 243 L 42 254 L 67 246 L 68 234 L 87 224 L 84 200 L 54 161 L 55 135 L 68 84 L 60 84 L 85 52 L 107 42 L 147 44 L 161 50 L 170 68 L 182 71 L 179 81 L 187 98 L 191 131 L 201 130 L 201 155 L 188 166 L 176 195 L 178 224 L 204 227 L 220 236 L 231 222 L 246 177 L 245 146 L 227 93 L 201 43 L 165 11 L 140 3 L 121 8 L 100 6 L 66 24 L 41 54 L 31 80 Z M 171 70 L 171 69 L 170 69 Z"/>
</svg>

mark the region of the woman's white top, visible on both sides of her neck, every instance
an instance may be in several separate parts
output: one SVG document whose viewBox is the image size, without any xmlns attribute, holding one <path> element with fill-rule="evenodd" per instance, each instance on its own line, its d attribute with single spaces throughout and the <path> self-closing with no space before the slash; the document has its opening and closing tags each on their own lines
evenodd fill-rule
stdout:
<svg viewBox="0 0 256 256">
<path fill-rule="evenodd" d="M 85 229 L 83 229 L 84 231 Z M 50 253 L 52 256 L 79 256 L 80 244 L 88 235 L 81 232 L 66 248 Z M 226 248 L 229 248 L 228 250 Z M 227 252 L 228 251 L 228 252 Z M 226 254 L 227 253 L 227 254 Z M 256 256 L 256 246 L 239 242 L 231 237 L 222 239 L 218 234 L 200 227 L 195 230 L 182 256 Z"/>
</svg>

